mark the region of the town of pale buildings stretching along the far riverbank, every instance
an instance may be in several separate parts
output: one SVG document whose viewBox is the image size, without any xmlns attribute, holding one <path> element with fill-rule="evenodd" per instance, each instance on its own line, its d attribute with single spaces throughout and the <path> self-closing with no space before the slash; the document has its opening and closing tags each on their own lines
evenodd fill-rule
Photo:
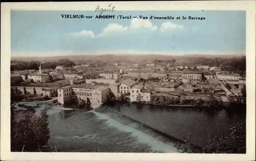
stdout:
<svg viewBox="0 0 256 161">
<path fill-rule="evenodd" d="M 38 70 L 12 71 L 11 94 L 49 97 L 61 104 L 89 103 L 93 108 L 120 99 L 158 105 L 166 105 L 166 98 L 186 105 L 211 99 L 245 101 L 245 73 L 227 72 L 217 66 L 113 63 L 104 68 L 83 64 L 42 69 L 44 63 Z M 168 105 L 177 105 L 177 101 Z"/>
</svg>

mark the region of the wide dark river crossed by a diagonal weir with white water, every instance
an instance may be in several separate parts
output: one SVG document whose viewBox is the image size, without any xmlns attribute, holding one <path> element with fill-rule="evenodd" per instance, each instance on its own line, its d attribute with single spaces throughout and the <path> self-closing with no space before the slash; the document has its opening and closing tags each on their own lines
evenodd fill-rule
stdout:
<svg viewBox="0 0 256 161">
<path fill-rule="evenodd" d="M 175 153 L 179 143 L 162 133 L 178 140 L 184 140 L 191 133 L 191 142 L 202 147 L 207 144 L 209 133 L 220 136 L 221 131 L 245 119 L 245 114 L 242 109 L 130 103 L 95 111 L 75 110 L 70 114 L 62 111 L 49 115 L 49 145 L 58 152 Z"/>
</svg>

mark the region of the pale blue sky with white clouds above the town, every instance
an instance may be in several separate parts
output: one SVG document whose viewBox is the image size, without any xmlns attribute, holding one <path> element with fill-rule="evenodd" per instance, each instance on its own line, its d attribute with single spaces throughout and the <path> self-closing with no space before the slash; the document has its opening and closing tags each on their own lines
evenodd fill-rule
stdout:
<svg viewBox="0 0 256 161">
<path fill-rule="evenodd" d="M 92 19 L 67 19 L 82 14 Z M 172 52 L 245 53 L 245 11 L 115 11 L 96 19 L 94 11 L 11 11 L 12 56 L 53 53 Z M 117 19 L 117 15 L 131 19 Z M 148 17 L 140 19 L 139 16 Z M 150 16 L 175 19 L 150 19 Z M 133 18 L 137 16 L 137 18 Z M 181 19 L 176 19 L 176 17 Z M 182 19 L 182 16 L 187 19 Z M 205 17 L 205 20 L 189 20 Z M 56 55 L 56 54 L 55 54 Z"/>
</svg>

